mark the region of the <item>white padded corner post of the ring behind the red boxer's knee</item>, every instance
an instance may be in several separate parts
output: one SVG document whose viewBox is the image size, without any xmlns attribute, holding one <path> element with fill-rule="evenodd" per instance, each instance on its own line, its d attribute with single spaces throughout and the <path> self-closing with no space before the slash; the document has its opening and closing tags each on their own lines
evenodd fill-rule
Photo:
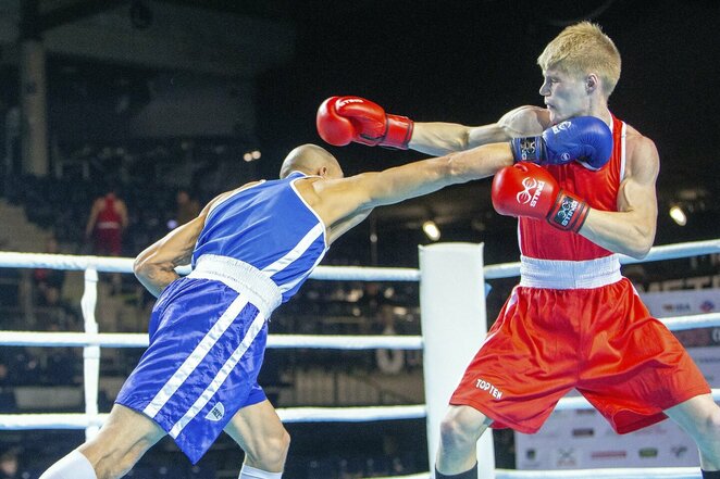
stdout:
<svg viewBox="0 0 720 479">
<path fill-rule="evenodd" d="M 487 333 L 482 243 L 420 247 L 420 311 L 432 471 L 450 395 Z M 489 431 L 477 442 L 477 471 L 483 479 L 495 477 Z"/>
</svg>

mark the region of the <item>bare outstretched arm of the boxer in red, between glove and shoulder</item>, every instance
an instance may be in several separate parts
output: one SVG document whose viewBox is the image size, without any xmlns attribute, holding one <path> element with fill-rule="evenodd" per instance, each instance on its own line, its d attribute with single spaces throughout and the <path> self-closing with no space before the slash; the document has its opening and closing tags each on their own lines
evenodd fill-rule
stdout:
<svg viewBox="0 0 720 479">
<path fill-rule="evenodd" d="M 541 135 L 547 126 L 547 111 L 538 106 L 520 106 L 502 115 L 496 123 L 474 127 L 415 122 L 408 147 L 422 153 L 442 155 L 511 138 Z"/>
</svg>

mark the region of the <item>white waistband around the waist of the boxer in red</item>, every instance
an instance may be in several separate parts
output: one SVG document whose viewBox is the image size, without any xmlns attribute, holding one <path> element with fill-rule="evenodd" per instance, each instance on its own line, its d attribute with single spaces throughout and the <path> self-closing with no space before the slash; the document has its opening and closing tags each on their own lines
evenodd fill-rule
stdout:
<svg viewBox="0 0 720 479">
<path fill-rule="evenodd" d="M 587 261 L 538 260 L 520 256 L 520 286 L 547 289 L 587 289 L 622 278 L 617 254 Z"/>
</svg>

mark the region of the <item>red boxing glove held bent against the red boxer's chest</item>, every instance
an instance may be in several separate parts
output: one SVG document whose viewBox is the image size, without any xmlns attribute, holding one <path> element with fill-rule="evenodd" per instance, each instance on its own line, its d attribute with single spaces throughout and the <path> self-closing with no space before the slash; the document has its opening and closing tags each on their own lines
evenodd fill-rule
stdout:
<svg viewBox="0 0 720 479">
<path fill-rule="evenodd" d="M 589 206 L 573 193 L 560 189 L 545 168 L 522 162 L 495 174 L 492 189 L 495 211 L 506 216 L 527 216 L 563 230 L 578 232 Z"/>
</svg>

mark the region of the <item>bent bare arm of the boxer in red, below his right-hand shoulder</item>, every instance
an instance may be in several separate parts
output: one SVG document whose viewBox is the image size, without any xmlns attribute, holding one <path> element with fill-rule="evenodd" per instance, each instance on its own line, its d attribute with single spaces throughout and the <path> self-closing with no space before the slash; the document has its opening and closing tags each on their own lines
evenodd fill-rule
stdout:
<svg viewBox="0 0 720 479">
<path fill-rule="evenodd" d="M 580 234 L 616 253 L 644 257 L 655 241 L 657 179 L 660 161 L 655 143 L 637 135 L 628 141 L 625 178 L 618 191 L 618 212 L 591 210 Z"/>
</svg>

